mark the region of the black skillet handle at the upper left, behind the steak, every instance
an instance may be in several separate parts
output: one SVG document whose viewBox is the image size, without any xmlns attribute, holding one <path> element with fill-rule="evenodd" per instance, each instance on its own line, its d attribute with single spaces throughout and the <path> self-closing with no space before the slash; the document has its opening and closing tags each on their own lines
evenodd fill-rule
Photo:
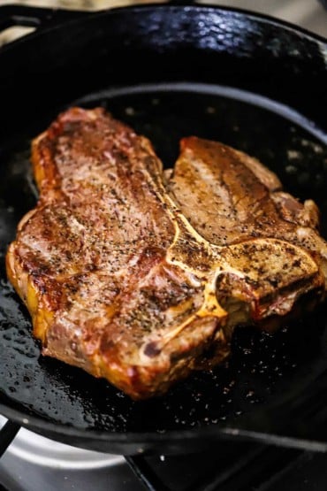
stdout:
<svg viewBox="0 0 327 491">
<path fill-rule="evenodd" d="M 0 6 L 0 33 L 8 27 L 43 27 L 52 24 L 79 19 L 90 12 L 66 11 L 64 9 L 49 9 L 29 7 L 27 5 Z"/>
</svg>

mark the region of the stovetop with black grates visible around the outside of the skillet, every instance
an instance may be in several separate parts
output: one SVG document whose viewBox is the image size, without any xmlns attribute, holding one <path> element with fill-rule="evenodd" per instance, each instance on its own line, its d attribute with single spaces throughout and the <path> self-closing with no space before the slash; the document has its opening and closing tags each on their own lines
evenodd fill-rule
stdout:
<svg viewBox="0 0 327 491">
<path fill-rule="evenodd" d="M 0 4 L 5 4 L 0 0 Z M 15 3 L 15 2 L 10 2 Z M 19 2 L 16 2 L 19 3 Z M 131 0 L 32 0 L 21 4 L 102 9 Z M 216 2 L 210 1 L 210 4 Z M 327 12 L 316 0 L 230 0 L 221 5 L 263 12 L 327 37 Z M 7 39 L 8 41 L 8 39 Z M 0 425 L 5 419 L 0 419 Z M 137 468 L 136 468 L 137 467 Z M 136 468 L 138 479 L 132 468 Z M 260 472 L 257 469 L 260 468 Z M 143 483 L 141 483 L 141 481 Z M 100 454 L 20 429 L 0 460 L 0 491 L 323 491 L 327 456 L 258 443 L 225 441 L 213 453 L 136 457 Z"/>
</svg>

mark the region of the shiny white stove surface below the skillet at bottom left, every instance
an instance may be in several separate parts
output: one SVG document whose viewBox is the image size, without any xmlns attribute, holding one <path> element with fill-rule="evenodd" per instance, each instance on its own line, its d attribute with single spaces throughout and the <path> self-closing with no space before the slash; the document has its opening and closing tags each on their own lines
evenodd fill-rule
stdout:
<svg viewBox="0 0 327 491">
<path fill-rule="evenodd" d="M 5 418 L 0 416 L 0 427 Z M 9 491 L 141 491 L 123 456 L 78 449 L 21 428 L 0 460 Z"/>
</svg>

